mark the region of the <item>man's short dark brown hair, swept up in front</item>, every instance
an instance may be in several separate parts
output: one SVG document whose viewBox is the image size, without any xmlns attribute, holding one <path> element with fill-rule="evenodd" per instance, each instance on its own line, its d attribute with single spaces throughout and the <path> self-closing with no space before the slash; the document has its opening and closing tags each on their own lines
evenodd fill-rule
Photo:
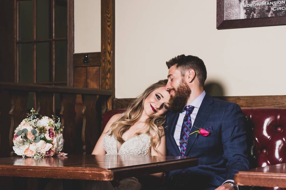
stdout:
<svg viewBox="0 0 286 190">
<path fill-rule="evenodd" d="M 198 77 L 198 80 L 200 82 L 200 85 L 204 86 L 204 83 L 206 81 L 206 66 L 203 63 L 203 60 L 201 60 L 197 56 L 185 56 L 183 54 L 170 59 L 170 61 L 166 61 L 166 65 L 168 66 L 168 69 L 170 69 L 171 66 L 175 65 L 176 69 L 181 72 L 182 77 L 184 77 L 185 73 L 189 69 L 194 69 L 196 76 Z"/>
</svg>

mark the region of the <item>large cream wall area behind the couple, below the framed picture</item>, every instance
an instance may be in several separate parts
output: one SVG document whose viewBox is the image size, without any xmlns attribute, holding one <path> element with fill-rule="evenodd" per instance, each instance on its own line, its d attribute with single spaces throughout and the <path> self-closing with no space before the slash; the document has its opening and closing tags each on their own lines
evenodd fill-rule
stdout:
<svg viewBox="0 0 286 190">
<path fill-rule="evenodd" d="M 286 26 L 216 29 L 216 1 L 116 0 L 115 95 L 132 98 L 195 55 L 225 96 L 285 95 Z"/>
</svg>

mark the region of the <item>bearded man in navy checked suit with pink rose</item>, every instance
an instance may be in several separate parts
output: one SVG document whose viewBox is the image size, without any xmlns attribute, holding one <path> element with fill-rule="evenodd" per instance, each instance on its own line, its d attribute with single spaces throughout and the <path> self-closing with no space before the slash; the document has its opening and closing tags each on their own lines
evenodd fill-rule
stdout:
<svg viewBox="0 0 286 190">
<path fill-rule="evenodd" d="M 171 95 L 166 119 L 168 156 L 198 158 L 198 166 L 171 171 L 171 189 L 233 190 L 234 174 L 249 169 L 243 113 L 237 104 L 206 94 L 206 67 L 196 56 L 166 62 Z"/>
</svg>

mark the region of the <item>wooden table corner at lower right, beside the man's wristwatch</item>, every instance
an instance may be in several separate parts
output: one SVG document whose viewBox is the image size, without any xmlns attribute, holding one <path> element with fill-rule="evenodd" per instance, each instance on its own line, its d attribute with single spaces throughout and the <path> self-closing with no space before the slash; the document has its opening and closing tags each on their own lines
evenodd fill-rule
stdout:
<svg viewBox="0 0 286 190">
<path fill-rule="evenodd" d="M 234 182 L 244 186 L 286 187 L 286 163 L 238 172 Z"/>
</svg>

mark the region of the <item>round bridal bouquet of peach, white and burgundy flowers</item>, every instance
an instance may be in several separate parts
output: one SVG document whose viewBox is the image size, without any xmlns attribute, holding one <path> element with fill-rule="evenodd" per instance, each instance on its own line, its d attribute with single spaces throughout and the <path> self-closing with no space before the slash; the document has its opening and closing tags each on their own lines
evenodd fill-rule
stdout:
<svg viewBox="0 0 286 190">
<path fill-rule="evenodd" d="M 63 149 L 63 126 L 56 116 L 39 115 L 33 108 L 15 129 L 13 150 L 32 158 L 53 156 Z"/>
</svg>

